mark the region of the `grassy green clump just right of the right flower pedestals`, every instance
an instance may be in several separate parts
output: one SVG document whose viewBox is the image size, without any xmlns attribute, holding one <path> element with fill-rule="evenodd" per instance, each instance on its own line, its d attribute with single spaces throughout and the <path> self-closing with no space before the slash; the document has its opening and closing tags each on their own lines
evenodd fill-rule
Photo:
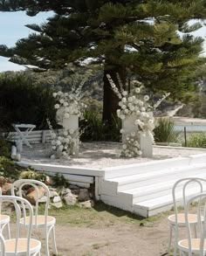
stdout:
<svg viewBox="0 0 206 256">
<path fill-rule="evenodd" d="M 154 128 L 154 142 L 180 142 L 180 132 L 169 118 L 159 118 Z"/>
</svg>

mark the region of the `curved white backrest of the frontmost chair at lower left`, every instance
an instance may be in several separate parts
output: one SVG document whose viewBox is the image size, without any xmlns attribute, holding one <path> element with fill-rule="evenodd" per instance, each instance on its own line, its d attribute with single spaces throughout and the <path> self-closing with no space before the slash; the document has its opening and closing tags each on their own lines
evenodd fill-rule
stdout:
<svg viewBox="0 0 206 256">
<path fill-rule="evenodd" d="M 29 218 L 29 221 L 27 222 L 28 228 L 26 230 L 26 235 L 24 236 L 25 239 L 27 239 L 26 245 L 27 245 L 27 253 L 26 255 L 30 255 L 30 239 L 31 239 L 31 225 L 32 225 L 32 218 L 33 218 L 33 209 L 29 201 L 22 197 L 16 197 L 16 196 L 0 196 L 0 214 L 2 210 L 2 204 L 4 202 L 9 202 L 14 205 L 15 207 L 15 213 L 16 213 L 16 230 L 13 232 L 13 236 L 15 239 L 15 254 L 17 254 L 17 245 L 19 242 L 19 235 L 20 235 L 20 218 L 25 218 L 24 211 L 21 211 L 21 206 L 24 205 L 24 208 L 27 209 L 27 217 Z M 4 239 L 2 236 L 2 227 L 0 225 L 0 240 L 2 242 L 2 248 L 4 249 Z M 3 250 L 1 250 L 3 251 Z M 1 252 L 3 253 L 3 252 Z"/>
</svg>

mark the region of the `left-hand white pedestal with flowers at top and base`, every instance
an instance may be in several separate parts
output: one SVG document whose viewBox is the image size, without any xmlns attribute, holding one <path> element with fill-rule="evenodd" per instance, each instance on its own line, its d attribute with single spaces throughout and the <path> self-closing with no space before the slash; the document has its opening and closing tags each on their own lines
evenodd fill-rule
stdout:
<svg viewBox="0 0 206 256">
<path fill-rule="evenodd" d="M 53 93 L 56 100 L 58 124 L 63 127 L 62 133 L 57 134 L 48 121 L 52 136 L 51 158 L 70 158 L 79 154 L 79 118 L 83 118 L 86 105 L 80 102 L 83 98 L 81 87 L 72 88 L 69 93 Z"/>
</svg>

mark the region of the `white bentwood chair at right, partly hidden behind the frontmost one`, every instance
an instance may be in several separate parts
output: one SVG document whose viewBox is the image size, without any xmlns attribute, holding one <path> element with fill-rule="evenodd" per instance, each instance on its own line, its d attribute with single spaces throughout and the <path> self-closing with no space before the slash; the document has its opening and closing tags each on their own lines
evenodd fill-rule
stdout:
<svg viewBox="0 0 206 256">
<path fill-rule="evenodd" d="M 204 185 L 204 187 L 203 187 Z M 171 243 L 172 243 L 172 235 L 173 231 L 175 233 L 174 238 L 174 252 L 173 255 L 177 255 L 177 245 L 179 239 L 179 228 L 182 226 L 186 226 L 185 222 L 185 214 L 178 211 L 178 204 L 185 206 L 189 197 L 196 195 L 197 193 L 203 193 L 203 190 L 206 190 L 206 179 L 198 178 L 198 177 L 187 177 L 182 178 L 175 182 L 172 189 L 173 196 L 173 204 L 175 209 L 175 214 L 168 216 L 168 224 L 169 224 L 169 239 L 168 239 L 168 254 L 170 251 Z M 189 223 L 193 228 L 194 234 L 196 235 L 196 225 L 197 225 L 197 216 L 196 214 L 189 214 Z"/>
</svg>

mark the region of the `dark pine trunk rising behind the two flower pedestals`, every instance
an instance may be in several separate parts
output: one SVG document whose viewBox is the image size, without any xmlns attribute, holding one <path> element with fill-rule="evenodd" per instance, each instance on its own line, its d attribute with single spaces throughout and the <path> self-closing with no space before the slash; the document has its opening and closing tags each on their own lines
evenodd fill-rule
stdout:
<svg viewBox="0 0 206 256">
<path fill-rule="evenodd" d="M 107 66 L 108 67 L 108 66 Z M 103 121 L 111 125 L 113 123 L 113 117 L 116 117 L 116 111 L 119 108 L 120 99 L 115 93 L 106 78 L 106 74 L 109 74 L 113 79 L 115 85 L 120 88 L 119 82 L 117 80 L 117 73 L 120 75 L 120 80 L 125 88 L 126 83 L 126 68 L 122 66 L 109 66 L 110 68 L 105 68 L 104 70 L 104 98 L 103 98 Z"/>
</svg>

